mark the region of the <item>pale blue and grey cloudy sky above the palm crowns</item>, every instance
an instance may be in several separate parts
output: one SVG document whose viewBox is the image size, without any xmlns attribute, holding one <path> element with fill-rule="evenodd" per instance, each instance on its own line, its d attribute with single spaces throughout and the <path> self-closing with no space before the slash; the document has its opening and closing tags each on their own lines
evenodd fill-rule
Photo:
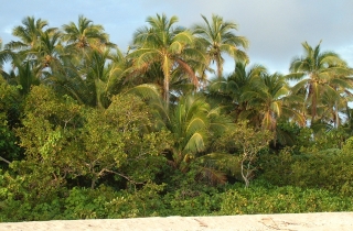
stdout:
<svg viewBox="0 0 353 231">
<path fill-rule="evenodd" d="M 0 37 L 3 43 L 15 40 L 14 26 L 30 15 L 47 20 L 60 28 L 77 22 L 83 14 L 104 25 L 110 41 L 122 51 L 133 32 L 146 25 L 146 18 L 156 13 L 176 15 L 179 25 L 202 23 L 201 14 L 212 13 L 238 24 L 237 35 L 250 42 L 252 64 L 263 64 L 271 73 L 288 73 L 293 56 L 302 54 L 301 43 L 322 51 L 333 51 L 353 66 L 352 0 L 0 0 Z M 225 72 L 232 72 L 227 61 Z"/>
</svg>

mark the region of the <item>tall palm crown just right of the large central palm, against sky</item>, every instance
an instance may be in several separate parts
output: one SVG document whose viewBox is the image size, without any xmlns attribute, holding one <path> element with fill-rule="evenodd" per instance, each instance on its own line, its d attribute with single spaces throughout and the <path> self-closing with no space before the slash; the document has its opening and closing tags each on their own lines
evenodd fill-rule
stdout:
<svg viewBox="0 0 353 231">
<path fill-rule="evenodd" d="M 244 36 L 237 36 L 233 31 L 237 30 L 234 22 L 224 21 L 222 16 L 212 15 L 212 22 L 201 15 L 205 22 L 204 25 L 195 25 L 194 34 L 206 47 L 208 63 L 215 62 L 217 66 L 217 76 L 222 77 L 224 58 L 222 53 L 231 55 L 235 61 L 247 62 L 247 55 L 239 47 L 247 48 L 248 41 Z"/>
</svg>

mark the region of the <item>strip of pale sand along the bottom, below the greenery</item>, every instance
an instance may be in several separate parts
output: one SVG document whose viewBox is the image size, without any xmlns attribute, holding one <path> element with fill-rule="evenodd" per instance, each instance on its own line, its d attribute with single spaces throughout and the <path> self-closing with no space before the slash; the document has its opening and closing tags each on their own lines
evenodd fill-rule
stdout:
<svg viewBox="0 0 353 231">
<path fill-rule="evenodd" d="M 330 230 L 352 231 L 353 212 L 168 217 L 0 223 L 1 231 L 96 230 Z"/>
</svg>

